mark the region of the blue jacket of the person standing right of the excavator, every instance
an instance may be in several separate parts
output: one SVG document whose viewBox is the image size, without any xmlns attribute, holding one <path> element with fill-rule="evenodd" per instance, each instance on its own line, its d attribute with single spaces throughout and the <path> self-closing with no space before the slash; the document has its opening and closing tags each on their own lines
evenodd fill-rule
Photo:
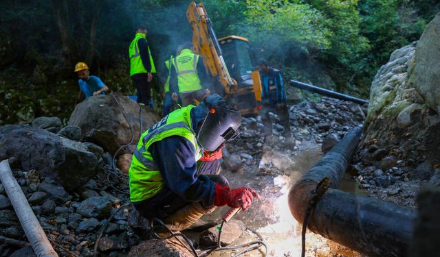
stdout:
<svg viewBox="0 0 440 257">
<path fill-rule="evenodd" d="M 269 67 L 269 73 L 261 74 L 261 99 L 263 103 L 275 106 L 276 103 L 285 103 L 286 93 L 281 71 Z"/>
</svg>

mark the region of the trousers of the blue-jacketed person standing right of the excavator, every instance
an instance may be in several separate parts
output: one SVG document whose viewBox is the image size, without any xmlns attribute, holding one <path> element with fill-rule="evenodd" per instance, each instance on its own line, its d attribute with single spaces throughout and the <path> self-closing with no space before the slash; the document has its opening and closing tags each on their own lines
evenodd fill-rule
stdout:
<svg viewBox="0 0 440 257">
<path fill-rule="evenodd" d="M 272 120 L 270 119 L 269 112 L 278 115 L 280 118 L 280 123 L 284 127 L 284 136 L 290 137 L 292 136 L 290 133 L 290 116 L 289 110 L 287 109 L 287 105 L 285 103 L 272 106 L 268 104 L 264 104 L 263 108 L 260 110 L 261 120 L 263 121 L 263 125 L 265 127 L 265 136 L 272 134 Z"/>
</svg>

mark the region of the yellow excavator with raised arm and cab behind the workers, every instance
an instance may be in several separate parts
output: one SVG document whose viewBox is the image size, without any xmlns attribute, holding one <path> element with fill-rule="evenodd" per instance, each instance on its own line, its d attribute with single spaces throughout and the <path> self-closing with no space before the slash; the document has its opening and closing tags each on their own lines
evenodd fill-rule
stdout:
<svg viewBox="0 0 440 257">
<path fill-rule="evenodd" d="M 214 82 L 210 90 L 232 100 L 244 116 L 259 114 L 261 81 L 259 71 L 253 69 L 249 40 L 241 36 L 217 39 L 203 3 L 190 3 L 186 17 L 195 52 L 203 57 Z"/>
</svg>

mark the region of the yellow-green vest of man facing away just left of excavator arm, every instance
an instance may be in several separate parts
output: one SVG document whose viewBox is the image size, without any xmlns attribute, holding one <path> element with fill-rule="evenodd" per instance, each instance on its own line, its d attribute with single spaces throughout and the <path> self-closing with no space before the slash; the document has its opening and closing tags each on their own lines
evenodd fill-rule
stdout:
<svg viewBox="0 0 440 257">
<path fill-rule="evenodd" d="M 199 75 L 197 75 L 199 56 L 190 49 L 184 49 L 174 58 L 173 66 L 177 73 L 179 92 L 185 93 L 201 89 Z"/>
</svg>

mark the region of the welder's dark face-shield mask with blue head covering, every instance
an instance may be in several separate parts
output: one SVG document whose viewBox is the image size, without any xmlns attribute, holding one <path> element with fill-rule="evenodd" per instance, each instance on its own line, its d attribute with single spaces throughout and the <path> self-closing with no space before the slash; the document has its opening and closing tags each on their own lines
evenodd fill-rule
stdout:
<svg viewBox="0 0 440 257">
<path fill-rule="evenodd" d="M 232 140 L 239 135 L 241 113 L 228 106 L 219 95 L 206 97 L 196 107 L 195 113 L 199 118 L 204 115 L 201 125 L 197 127 L 197 142 L 204 150 L 214 151 L 225 141 Z"/>
</svg>

